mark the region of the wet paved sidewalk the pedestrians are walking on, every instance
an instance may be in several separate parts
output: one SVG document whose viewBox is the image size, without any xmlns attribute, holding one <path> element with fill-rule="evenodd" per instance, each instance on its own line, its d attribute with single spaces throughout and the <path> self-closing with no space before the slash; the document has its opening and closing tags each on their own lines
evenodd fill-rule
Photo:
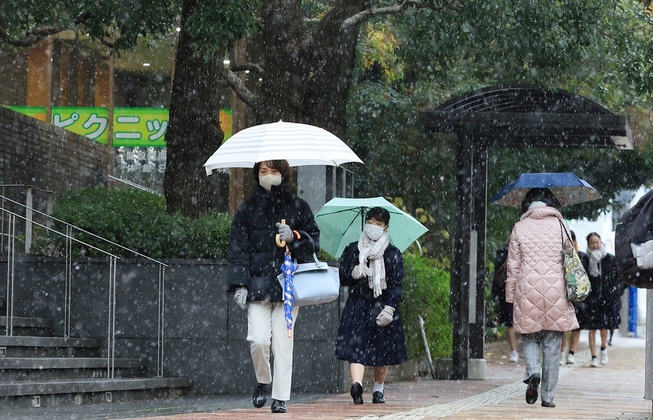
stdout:
<svg viewBox="0 0 653 420">
<path fill-rule="evenodd" d="M 597 334 L 598 338 L 598 334 Z M 576 364 L 561 367 L 557 407 L 544 408 L 540 401 L 528 405 L 522 383 L 524 365 L 508 363 L 505 348 L 489 346 L 487 379 L 447 381 L 415 379 L 386 384 L 384 405 L 354 405 L 343 395 L 296 395 L 287 414 L 272 414 L 250 405 L 250 396 L 178 398 L 155 402 L 112 403 L 78 407 L 1 410 L 1 419 L 133 419 L 133 420 L 430 420 L 430 419 L 618 419 L 650 420 L 652 402 L 644 400 L 645 339 L 622 338 L 618 331 L 608 347 L 610 361 L 589 367 L 587 331 L 580 339 Z"/>
</svg>

